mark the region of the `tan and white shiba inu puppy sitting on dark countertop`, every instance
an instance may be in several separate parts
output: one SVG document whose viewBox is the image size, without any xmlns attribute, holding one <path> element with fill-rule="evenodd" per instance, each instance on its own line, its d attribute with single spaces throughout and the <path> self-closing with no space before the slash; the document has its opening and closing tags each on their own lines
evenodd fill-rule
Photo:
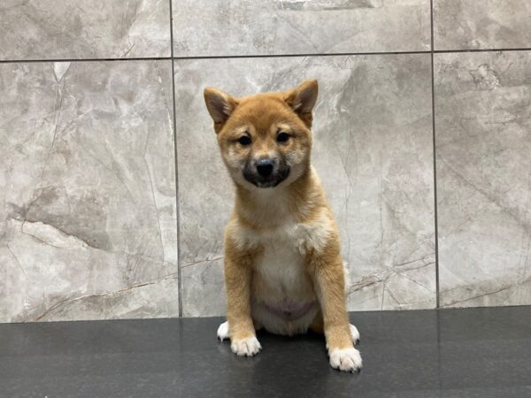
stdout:
<svg viewBox="0 0 531 398">
<path fill-rule="evenodd" d="M 221 157 L 235 181 L 225 232 L 227 322 L 238 356 L 261 349 L 255 331 L 324 333 L 332 367 L 358 371 L 359 334 L 349 324 L 339 232 L 312 167 L 316 80 L 287 92 L 235 98 L 205 88 Z"/>
</svg>

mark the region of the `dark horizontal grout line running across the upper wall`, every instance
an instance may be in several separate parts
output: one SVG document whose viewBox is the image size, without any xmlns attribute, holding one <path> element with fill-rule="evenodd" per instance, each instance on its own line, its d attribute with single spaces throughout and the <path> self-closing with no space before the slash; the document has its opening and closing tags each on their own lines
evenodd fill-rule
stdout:
<svg viewBox="0 0 531 398">
<path fill-rule="evenodd" d="M 173 25 L 173 23 L 171 24 Z M 173 34 L 171 34 L 173 36 Z M 173 47 L 173 37 L 171 38 Z M 187 59 L 227 59 L 227 58 L 280 58 L 280 57 L 356 57 L 356 56 L 384 56 L 384 55 L 413 55 L 413 54 L 452 54 L 474 52 L 511 52 L 531 51 L 529 48 L 516 49 L 472 49 L 472 50 L 419 50 L 419 51 L 376 51 L 376 52 L 334 52 L 334 53 L 307 53 L 307 54 L 249 54 L 249 55 L 223 55 L 223 56 L 191 56 L 175 57 L 173 48 L 171 57 L 132 57 L 132 58 L 50 58 L 50 59 L 0 59 L 0 64 L 32 64 L 45 62 L 121 62 L 121 61 L 161 61 L 161 60 L 187 60 Z"/>
</svg>

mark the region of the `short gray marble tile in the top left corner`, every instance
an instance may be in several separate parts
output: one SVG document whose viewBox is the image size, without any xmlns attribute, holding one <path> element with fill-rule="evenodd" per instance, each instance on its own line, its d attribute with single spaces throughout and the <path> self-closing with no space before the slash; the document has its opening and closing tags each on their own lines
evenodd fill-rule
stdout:
<svg viewBox="0 0 531 398">
<path fill-rule="evenodd" d="M 168 0 L 3 0 L 0 60 L 170 57 Z"/>
</svg>

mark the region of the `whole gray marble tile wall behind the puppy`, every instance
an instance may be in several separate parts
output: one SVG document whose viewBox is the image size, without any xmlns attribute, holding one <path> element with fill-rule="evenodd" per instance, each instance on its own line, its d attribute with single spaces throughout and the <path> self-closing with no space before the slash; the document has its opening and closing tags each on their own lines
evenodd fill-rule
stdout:
<svg viewBox="0 0 531 398">
<path fill-rule="evenodd" d="M 349 310 L 531 304 L 527 1 L 170 1 L 0 4 L 0 322 L 223 314 L 203 88 L 306 78 Z"/>
</svg>

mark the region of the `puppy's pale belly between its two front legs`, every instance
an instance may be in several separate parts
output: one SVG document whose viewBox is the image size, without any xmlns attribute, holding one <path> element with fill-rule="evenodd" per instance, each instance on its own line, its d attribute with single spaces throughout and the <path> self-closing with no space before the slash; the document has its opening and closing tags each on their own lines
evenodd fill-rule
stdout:
<svg viewBox="0 0 531 398">
<path fill-rule="evenodd" d="M 289 241 L 265 245 L 251 292 L 252 318 L 272 333 L 305 333 L 319 310 L 304 257 Z"/>
</svg>

